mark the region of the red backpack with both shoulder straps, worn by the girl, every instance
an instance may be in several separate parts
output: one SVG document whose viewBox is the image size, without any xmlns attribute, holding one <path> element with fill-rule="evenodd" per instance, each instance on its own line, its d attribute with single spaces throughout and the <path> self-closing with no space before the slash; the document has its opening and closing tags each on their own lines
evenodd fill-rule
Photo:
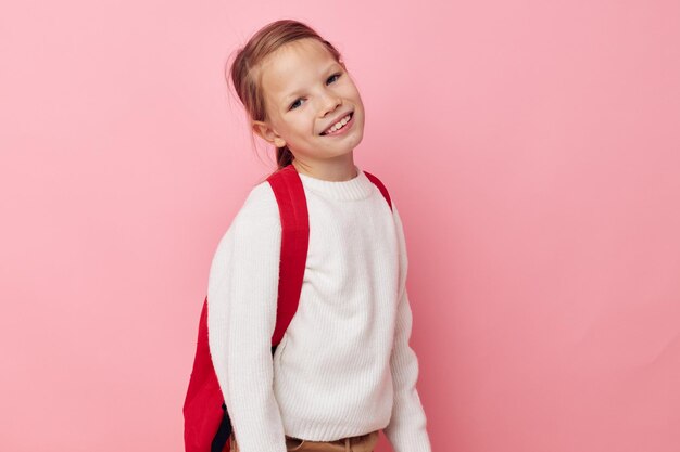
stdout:
<svg viewBox="0 0 680 452">
<path fill-rule="evenodd" d="M 390 209 L 392 202 L 387 189 L 375 176 L 364 171 L 380 190 Z M 288 165 L 267 178 L 279 207 L 281 219 L 281 259 L 277 318 L 272 336 L 272 354 L 284 338 L 284 333 L 300 301 L 302 277 L 307 257 L 310 222 L 302 181 L 295 167 Z M 224 402 L 217 375 L 210 357 L 207 341 L 207 296 L 199 320 L 199 338 L 193 370 L 184 403 L 186 452 L 229 452 L 231 422 Z"/>
</svg>

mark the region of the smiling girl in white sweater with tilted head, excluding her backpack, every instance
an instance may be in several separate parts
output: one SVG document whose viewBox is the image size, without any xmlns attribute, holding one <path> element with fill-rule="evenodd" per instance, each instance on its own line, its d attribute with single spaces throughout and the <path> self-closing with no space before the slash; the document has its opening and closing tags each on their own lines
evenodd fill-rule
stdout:
<svg viewBox="0 0 680 452">
<path fill-rule="evenodd" d="M 209 279 L 209 343 L 240 452 L 430 452 L 408 345 L 402 222 L 354 164 L 364 105 L 339 52 L 307 25 L 274 22 L 230 70 L 254 133 L 303 183 L 310 242 L 298 311 L 272 354 L 281 223 L 256 184 Z"/>
</svg>

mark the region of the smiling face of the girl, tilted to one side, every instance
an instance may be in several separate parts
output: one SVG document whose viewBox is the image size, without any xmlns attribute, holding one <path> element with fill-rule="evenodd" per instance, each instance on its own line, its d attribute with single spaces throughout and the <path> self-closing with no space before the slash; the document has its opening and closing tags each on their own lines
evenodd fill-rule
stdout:
<svg viewBox="0 0 680 452">
<path fill-rule="evenodd" d="M 261 69 L 268 120 L 254 121 L 255 133 L 277 147 L 288 145 L 305 165 L 351 158 L 364 134 L 364 105 L 350 74 L 324 44 L 311 38 L 289 42 Z M 348 114 L 349 122 L 326 133 Z"/>
</svg>

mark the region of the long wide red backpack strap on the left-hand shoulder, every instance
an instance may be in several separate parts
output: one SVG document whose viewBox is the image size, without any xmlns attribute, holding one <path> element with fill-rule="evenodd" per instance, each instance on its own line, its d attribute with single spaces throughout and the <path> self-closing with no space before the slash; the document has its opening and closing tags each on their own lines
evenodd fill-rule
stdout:
<svg viewBox="0 0 680 452">
<path fill-rule="evenodd" d="M 276 327 L 273 352 L 284 338 L 298 311 L 310 243 L 310 219 L 304 188 L 295 167 L 288 165 L 267 178 L 281 217 L 281 261 L 279 267 Z"/>
</svg>

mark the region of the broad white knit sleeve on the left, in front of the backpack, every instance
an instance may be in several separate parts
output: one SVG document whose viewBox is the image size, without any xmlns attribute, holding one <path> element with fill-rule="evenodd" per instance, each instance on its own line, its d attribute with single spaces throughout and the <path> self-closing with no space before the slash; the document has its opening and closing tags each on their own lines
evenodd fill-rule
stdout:
<svg viewBox="0 0 680 452">
<path fill-rule="evenodd" d="M 280 244 L 278 204 L 265 181 L 222 237 L 207 287 L 211 357 L 241 452 L 286 452 L 272 357 Z"/>
</svg>

